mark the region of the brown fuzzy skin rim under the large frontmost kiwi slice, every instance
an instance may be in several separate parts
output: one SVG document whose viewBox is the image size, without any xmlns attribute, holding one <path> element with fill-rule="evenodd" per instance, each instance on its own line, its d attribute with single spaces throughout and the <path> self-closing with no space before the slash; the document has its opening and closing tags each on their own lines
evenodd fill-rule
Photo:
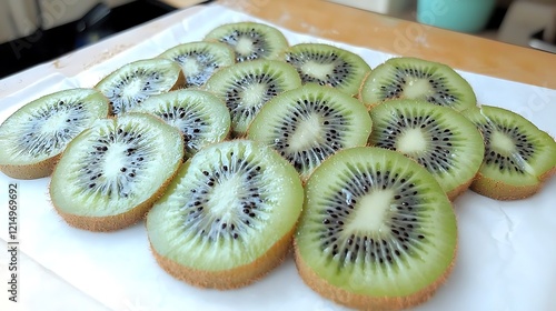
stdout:
<svg viewBox="0 0 556 311">
<path fill-rule="evenodd" d="M 296 262 L 297 271 L 304 280 L 304 282 L 312 289 L 315 292 L 320 294 L 322 298 L 329 299 L 338 304 L 342 304 L 349 308 L 355 308 L 357 310 L 377 311 L 377 310 L 403 310 L 411 307 L 416 307 L 428 301 L 443 285 L 448 277 L 454 270 L 457 255 L 457 245 L 454 250 L 454 255 L 451 262 L 435 282 L 429 284 L 427 288 L 421 289 L 415 293 L 406 297 L 370 297 L 358 293 L 351 293 L 346 290 L 336 288 L 326 280 L 319 278 L 312 269 L 310 269 L 305 262 L 299 253 L 296 241 L 294 240 L 294 259 Z"/>
</svg>

